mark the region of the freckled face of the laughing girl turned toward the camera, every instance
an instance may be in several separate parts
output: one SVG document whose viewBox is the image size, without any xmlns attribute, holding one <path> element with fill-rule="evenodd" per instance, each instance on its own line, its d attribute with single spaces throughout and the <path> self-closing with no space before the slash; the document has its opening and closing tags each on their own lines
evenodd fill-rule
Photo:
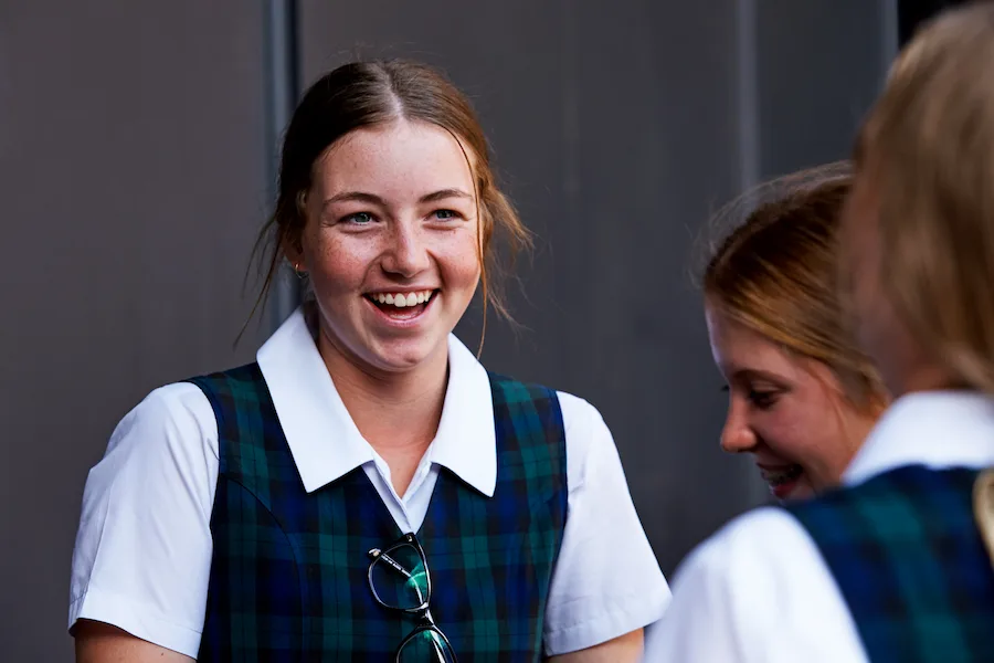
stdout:
<svg viewBox="0 0 994 663">
<path fill-rule="evenodd" d="M 470 164 L 445 129 L 362 128 L 315 162 L 292 262 L 309 274 L 321 333 L 371 375 L 444 360 L 479 281 Z"/>
</svg>

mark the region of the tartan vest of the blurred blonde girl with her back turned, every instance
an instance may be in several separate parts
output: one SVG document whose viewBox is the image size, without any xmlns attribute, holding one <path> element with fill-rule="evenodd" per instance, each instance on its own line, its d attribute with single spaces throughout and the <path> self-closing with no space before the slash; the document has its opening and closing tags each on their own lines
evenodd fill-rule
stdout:
<svg viewBox="0 0 994 663">
<path fill-rule="evenodd" d="M 901 467 L 786 507 L 821 550 L 874 663 L 994 661 L 977 474 Z"/>
</svg>

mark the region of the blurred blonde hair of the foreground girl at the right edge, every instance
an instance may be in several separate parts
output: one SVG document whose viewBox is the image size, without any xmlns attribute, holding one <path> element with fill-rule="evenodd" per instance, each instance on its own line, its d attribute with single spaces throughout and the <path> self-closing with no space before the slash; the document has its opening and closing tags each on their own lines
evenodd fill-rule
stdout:
<svg viewBox="0 0 994 663">
<path fill-rule="evenodd" d="M 994 392 L 994 4 L 940 14 L 901 52 L 856 145 L 885 293 L 956 383 Z"/>
</svg>

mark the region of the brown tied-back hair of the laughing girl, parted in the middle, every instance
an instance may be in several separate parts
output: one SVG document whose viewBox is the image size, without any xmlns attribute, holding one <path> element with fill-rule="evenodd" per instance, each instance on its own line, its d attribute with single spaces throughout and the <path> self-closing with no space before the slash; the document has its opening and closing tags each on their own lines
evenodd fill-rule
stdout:
<svg viewBox="0 0 994 663">
<path fill-rule="evenodd" d="M 253 251 L 265 254 L 265 281 L 253 314 L 268 298 L 285 249 L 299 245 L 315 161 L 347 134 L 396 119 L 433 124 L 452 134 L 464 152 L 472 151 L 473 158 L 465 156 L 476 188 L 484 332 L 488 306 L 511 319 L 500 287 L 506 270 L 494 240 L 504 240 L 514 261 L 519 250 L 530 248 L 530 233 L 497 188 L 486 136 L 469 101 L 438 71 L 402 60 L 339 66 L 311 85 L 294 112 L 283 141 L 276 210 Z"/>
</svg>

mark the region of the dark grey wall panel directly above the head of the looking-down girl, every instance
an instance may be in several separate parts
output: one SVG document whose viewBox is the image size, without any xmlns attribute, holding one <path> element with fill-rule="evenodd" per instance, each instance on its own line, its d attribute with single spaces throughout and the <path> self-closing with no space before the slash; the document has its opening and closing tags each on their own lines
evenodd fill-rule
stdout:
<svg viewBox="0 0 994 663">
<path fill-rule="evenodd" d="M 892 2 L 755 2 L 762 177 L 849 156 L 897 51 Z"/>
</svg>

